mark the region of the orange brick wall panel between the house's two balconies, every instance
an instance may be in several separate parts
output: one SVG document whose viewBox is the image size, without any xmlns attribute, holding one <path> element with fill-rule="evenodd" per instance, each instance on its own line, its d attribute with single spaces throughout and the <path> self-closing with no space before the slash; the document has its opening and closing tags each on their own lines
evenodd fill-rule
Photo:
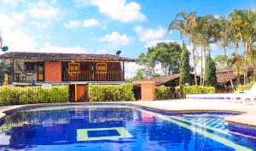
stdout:
<svg viewBox="0 0 256 151">
<path fill-rule="evenodd" d="M 61 81 L 61 61 L 44 62 L 45 81 Z"/>
</svg>

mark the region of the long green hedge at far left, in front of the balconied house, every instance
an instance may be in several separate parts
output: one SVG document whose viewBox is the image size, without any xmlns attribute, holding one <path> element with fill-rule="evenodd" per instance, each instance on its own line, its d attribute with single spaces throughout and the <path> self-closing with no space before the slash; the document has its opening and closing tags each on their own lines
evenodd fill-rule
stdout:
<svg viewBox="0 0 256 151">
<path fill-rule="evenodd" d="M 0 87 L 0 105 L 18 105 L 27 103 L 65 103 L 68 102 L 68 87 Z"/>
</svg>

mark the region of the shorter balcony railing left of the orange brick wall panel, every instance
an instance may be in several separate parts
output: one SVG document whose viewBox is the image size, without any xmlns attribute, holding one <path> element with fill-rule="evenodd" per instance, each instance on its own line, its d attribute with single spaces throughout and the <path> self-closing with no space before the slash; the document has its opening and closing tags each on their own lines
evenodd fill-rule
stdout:
<svg viewBox="0 0 256 151">
<path fill-rule="evenodd" d="M 24 70 L 14 71 L 12 75 L 13 81 L 31 82 L 31 81 L 44 81 L 43 70 Z"/>
</svg>

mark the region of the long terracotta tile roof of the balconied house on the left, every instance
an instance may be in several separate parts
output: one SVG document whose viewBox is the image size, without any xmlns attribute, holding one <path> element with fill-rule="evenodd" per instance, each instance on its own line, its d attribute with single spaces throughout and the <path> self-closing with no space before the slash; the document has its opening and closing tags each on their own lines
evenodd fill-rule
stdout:
<svg viewBox="0 0 256 151">
<path fill-rule="evenodd" d="M 128 59 L 113 54 L 87 54 L 87 53 L 28 53 L 9 52 L 0 55 L 0 59 L 44 59 L 44 60 L 99 60 L 99 61 L 126 61 L 133 62 L 135 59 Z"/>
</svg>

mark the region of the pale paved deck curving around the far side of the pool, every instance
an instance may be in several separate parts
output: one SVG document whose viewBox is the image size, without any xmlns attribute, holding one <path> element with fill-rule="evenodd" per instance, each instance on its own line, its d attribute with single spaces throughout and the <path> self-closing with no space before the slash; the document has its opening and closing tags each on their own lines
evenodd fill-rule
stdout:
<svg viewBox="0 0 256 151">
<path fill-rule="evenodd" d="M 109 103 L 109 102 L 108 102 Z M 115 102 L 117 103 L 117 102 Z M 251 126 L 256 128 L 256 106 L 247 105 L 243 103 L 230 103 L 224 100 L 166 100 L 166 101 L 137 101 L 137 102 L 119 102 L 135 104 L 147 108 L 161 109 L 170 112 L 200 112 L 200 111 L 228 111 L 228 112 L 239 112 L 241 115 L 231 115 L 226 117 L 226 120 L 231 123 L 239 124 L 242 126 Z M 54 103 L 59 104 L 79 104 L 88 105 L 90 103 Z M 101 103 L 96 103 L 101 104 Z M 106 104 L 106 103 L 105 103 Z M 118 103 L 117 103 L 118 104 Z M 24 107 L 35 107 L 35 106 L 52 106 L 53 104 L 30 104 L 30 105 L 15 105 L 8 107 L 0 107 L 0 119 L 5 116 L 4 113 L 20 109 Z"/>
</svg>

